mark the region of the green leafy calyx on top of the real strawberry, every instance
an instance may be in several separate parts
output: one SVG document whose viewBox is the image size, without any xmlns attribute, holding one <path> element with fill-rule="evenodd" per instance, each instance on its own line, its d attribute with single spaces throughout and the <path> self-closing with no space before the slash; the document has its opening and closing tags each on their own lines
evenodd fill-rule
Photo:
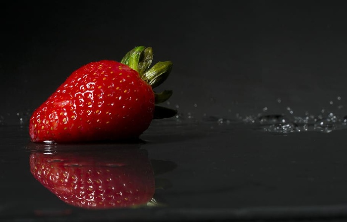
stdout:
<svg viewBox="0 0 347 222">
<path fill-rule="evenodd" d="M 171 61 L 158 62 L 150 68 L 152 61 L 153 49 L 151 47 L 136 46 L 125 54 L 120 63 L 136 70 L 141 79 L 154 89 L 169 77 L 173 63 Z M 155 104 L 167 101 L 172 94 L 172 90 L 164 90 L 160 93 L 154 92 Z M 156 105 L 154 119 L 170 118 L 176 114 L 176 110 Z"/>
</svg>

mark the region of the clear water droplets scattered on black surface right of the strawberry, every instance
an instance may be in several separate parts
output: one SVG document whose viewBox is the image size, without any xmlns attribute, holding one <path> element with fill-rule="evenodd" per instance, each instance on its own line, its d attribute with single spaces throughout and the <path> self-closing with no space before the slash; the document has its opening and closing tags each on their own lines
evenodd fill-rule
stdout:
<svg viewBox="0 0 347 222">
<path fill-rule="evenodd" d="M 211 98 L 211 101 L 215 101 L 215 99 Z M 256 130 L 277 134 L 309 131 L 331 133 L 336 130 L 347 129 L 347 115 L 339 116 L 337 114 L 341 114 L 344 107 L 341 96 L 329 99 L 327 101 L 327 107 L 321 108 L 317 115 L 311 114 L 308 111 L 301 115 L 292 105 L 286 104 L 280 97 L 276 98 L 276 104 L 281 106 L 283 113 L 273 114 L 274 112 L 271 110 L 271 106 L 263 106 L 258 114 L 241 116 L 236 113 L 236 118 L 230 118 L 229 114 L 231 114 L 233 110 L 231 108 L 228 108 L 227 111 L 229 114 L 227 116 L 211 116 L 207 113 L 203 113 L 201 116 L 201 110 L 200 114 L 196 112 L 199 111 L 196 108 L 200 108 L 200 106 L 198 106 L 197 103 L 192 103 L 187 106 L 191 108 L 189 112 L 178 112 L 177 115 L 169 121 L 173 121 L 177 125 L 207 123 L 212 124 L 211 129 L 218 125 L 237 125 L 237 127 L 241 127 L 239 124 L 248 124 Z M 238 105 L 238 102 L 232 102 L 232 105 Z M 179 110 L 180 105 L 175 104 L 174 108 Z M 336 112 L 331 110 L 335 110 Z"/>
</svg>

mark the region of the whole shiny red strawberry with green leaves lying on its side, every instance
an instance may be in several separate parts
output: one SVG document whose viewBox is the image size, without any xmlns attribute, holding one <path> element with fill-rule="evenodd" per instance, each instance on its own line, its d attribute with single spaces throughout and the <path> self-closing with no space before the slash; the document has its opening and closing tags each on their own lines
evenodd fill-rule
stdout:
<svg viewBox="0 0 347 222">
<path fill-rule="evenodd" d="M 170 118 L 175 110 L 155 104 L 172 90 L 156 93 L 172 62 L 153 60 L 151 47 L 137 46 L 120 62 L 90 62 L 74 71 L 32 114 L 33 142 L 88 142 L 138 138 L 153 119 Z"/>
</svg>

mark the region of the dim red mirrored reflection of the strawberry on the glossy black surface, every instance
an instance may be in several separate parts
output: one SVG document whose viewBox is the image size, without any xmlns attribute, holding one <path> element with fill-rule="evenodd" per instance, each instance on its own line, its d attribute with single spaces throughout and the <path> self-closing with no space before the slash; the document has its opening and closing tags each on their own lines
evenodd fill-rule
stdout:
<svg viewBox="0 0 347 222">
<path fill-rule="evenodd" d="M 30 171 L 59 199 L 83 208 L 145 205 L 155 192 L 150 160 L 138 148 L 32 152 Z"/>
</svg>

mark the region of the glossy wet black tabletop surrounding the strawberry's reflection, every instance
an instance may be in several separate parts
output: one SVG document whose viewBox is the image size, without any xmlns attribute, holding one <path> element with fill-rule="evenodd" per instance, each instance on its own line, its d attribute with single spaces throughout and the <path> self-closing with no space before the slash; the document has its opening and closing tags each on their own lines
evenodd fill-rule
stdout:
<svg viewBox="0 0 347 222">
<path fill-rule="evenodd" d="M 32 143 L 24 126 L 3 126 L 0 130 L 3 219 L 347 217 L 346 130 L 273 134 L 236 119 L 224 124 L 215 118 L 173 119 L 154 121 L 141 136 L 141 143 L 88 145 Z M 107 210 L 73 206 L 60 200 L 30 173 L 29 158 L 33 153 L 50 156 L 72 152 L 76 161 L 76 156 L 83 159 L 94 152 L 95 157 L 110 149 L 147 153 L 155 175 L 156 204 Z M 99 166 L 115 167 L 110 160 L 112 155 L 106 156 L 101 155 Z M 120 166 L 119 152 L 114 157 Z M 74 163 L 73 167 L 82 168 L 86 163 Z"/>
</svg>

